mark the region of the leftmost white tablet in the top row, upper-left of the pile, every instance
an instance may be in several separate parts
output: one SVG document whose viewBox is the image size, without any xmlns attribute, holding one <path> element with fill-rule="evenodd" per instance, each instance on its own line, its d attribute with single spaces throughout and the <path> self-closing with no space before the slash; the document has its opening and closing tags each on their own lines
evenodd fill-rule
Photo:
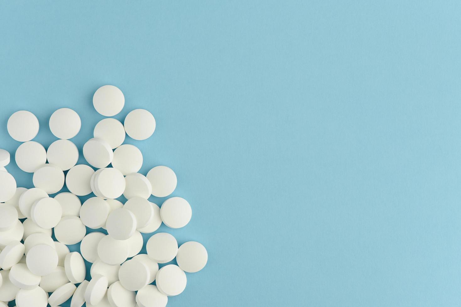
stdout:
<svg viewBox="0 0 461 307">
<path fill-rule="evenodd" d="M 8 118 L 6 129 L 13 139 L 27 142 L 35 138 L 38 133 L 38 119 L 29 111 L 17 111 Z"/>
</svg>

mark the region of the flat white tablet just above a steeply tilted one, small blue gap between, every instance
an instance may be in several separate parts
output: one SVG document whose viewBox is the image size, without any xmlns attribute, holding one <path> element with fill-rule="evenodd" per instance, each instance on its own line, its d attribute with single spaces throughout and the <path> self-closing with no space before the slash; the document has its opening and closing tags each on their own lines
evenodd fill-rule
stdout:
<svg viewBox="0 0 461 307">
<path fill-rule="evenodd" d="M 54 227 L 56 240 L 66 245 L 76 244 L 85 237 L 86 228 L 77 216 L 63 216 L 58 225 Z"/>
</svg>

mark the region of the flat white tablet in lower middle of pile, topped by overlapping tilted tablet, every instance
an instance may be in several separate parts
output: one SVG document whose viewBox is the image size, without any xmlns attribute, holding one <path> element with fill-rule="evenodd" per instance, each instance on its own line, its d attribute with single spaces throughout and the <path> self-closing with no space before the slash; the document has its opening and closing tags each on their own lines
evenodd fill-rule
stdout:
<svg viewBox="0 0 461 307">
<path fill-rule="evenodd" d="M 103 237 L 98 243 L 99 258 L 110 265 L 122 264 L 128 258 L 129 246 L 124 240 Z"/>
</svg>

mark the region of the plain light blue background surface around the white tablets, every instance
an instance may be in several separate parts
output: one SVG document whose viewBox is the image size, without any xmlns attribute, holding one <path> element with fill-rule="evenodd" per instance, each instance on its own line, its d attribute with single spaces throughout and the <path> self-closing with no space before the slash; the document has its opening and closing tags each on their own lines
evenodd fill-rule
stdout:
<svg viewBox="0 0 461 307">
<path fill-rule="evenodd" d="M 461 305 L 459 1 L 2 1 L 1 147 L 119 87 L 207 266 L 169 306 Z M 83 162 L 83 158 L 80 160 Z M 31 174 L 12 162 L 18 185 Z M 161 204 L 163 199 L 153 199 Z M 68 305 L 65 305 L 68 306 Z"/>
</svg>

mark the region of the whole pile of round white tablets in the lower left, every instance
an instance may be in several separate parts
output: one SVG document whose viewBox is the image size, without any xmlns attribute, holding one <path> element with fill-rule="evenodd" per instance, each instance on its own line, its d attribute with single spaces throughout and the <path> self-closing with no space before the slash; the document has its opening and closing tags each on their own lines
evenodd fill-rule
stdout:
<svg viewBox="0 0 461 307">
<path fill-rule="evenodd" d="M 103 116 L 117 115 L 124 104 L 123 93 L 112 85 L 100 87 L 93 96 Z M 71 307 L 166 306 L 168 296 L 185 289 L 185 272 L 200 271 L 208 255 L 195 241 L 178 247 L 176 238 L 166 232 L 150 237 L 147 255 L 139 254 L 141 233 L 155 232 L 162 222 L 181 228 L 192 216 L 184 198 L 167 198 L 161 207 L 148 200 L 151 195 L 171 195 L 176 174 L 166 166 L 138 173 L 141 151 L 123 144 L 126 134 L 148 139 L 155 130 L 154 116 L 136 109 L 123 124 L 114 118 L 98 122 L 94 137 L 83 145 L 89 165 L 77 165 L 79 151 L 69 140 L 80 131 L 77 112 L 56 110 L 49 127 L 58 139 L 46 150 L 32 140 L 39 131 L 34 114 L 21 110 L 8 119 L 8 133 L 22 142 L 16 164 L 33 173 L 35 187 L 16 186 L 5 168 L 10 153 L 0 149 L 0 307 L 12 300 L 17 307 L 56 307 L 70 298 Z M 69 192 L 60 192 L 64 186 Z M 79 196 L 90 193 L 94 197 L 82 203 Z M 125 203 L 116 199 L 122 195 Z M 87 227 L 101 230 L 87 233 Z M 79 242 L 80 252 L 66 246 Z M 159 263 L 175 258 L 177 265 L 159 269 Z M 84 260 L 92 263 L 90 276 Z"/>
</svg>

